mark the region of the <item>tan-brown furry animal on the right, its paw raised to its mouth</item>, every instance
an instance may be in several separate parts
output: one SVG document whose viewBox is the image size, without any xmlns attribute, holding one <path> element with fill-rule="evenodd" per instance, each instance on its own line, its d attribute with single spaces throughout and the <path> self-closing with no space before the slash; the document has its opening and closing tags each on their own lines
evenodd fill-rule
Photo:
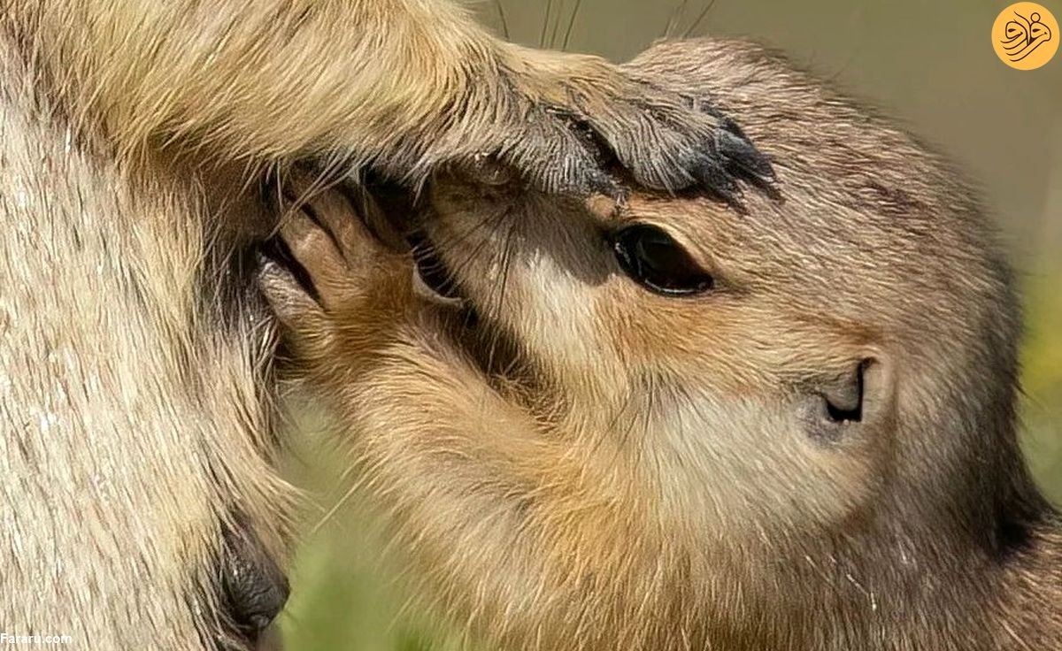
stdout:
<svg viewBox="0 0 1062 651">
<path fill-rule="evenodd" d="M 1017 449 L 1018 309 L 973 193 L 756 47 L 632 65 L 719 98 L 781 201 L 439 176 L 424 227 L 473 333 L 335 198 L 338 249 L 298 212 L 282 230 L 320 304 L 264 271 L 411 578 L 504 649 L 1056 648 L 1062 534 Z M 630 222 L 716 288 L 632 282 L 600 235 Z M 861 421 L 808 435 L 801 400 L 860 360 Z"/>
</svg>

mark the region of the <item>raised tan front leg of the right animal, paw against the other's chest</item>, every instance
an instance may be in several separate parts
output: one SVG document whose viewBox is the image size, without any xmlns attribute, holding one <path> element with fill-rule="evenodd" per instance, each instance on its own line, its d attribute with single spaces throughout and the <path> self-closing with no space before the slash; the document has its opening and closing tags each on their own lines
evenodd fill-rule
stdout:
<svg viewBox="0 0 1062 651">
<path fill-rule="evenodd" d="M 261 284 L 414 594 L 503 649 L 681 648 L 645 621 L 679 612 L 684 566 L 661 556 L 638 469 L 493 386 L 354 212 L 332 195 L 289 215 L 306 274 L 270 262 Z"/>
</svg>

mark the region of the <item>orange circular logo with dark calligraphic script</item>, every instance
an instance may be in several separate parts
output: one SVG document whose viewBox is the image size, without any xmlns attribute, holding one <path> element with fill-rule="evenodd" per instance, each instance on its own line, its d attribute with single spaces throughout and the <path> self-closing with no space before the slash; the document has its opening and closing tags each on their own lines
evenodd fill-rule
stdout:
<svg viewBox="0 0 1062 651">
<path fill-rule="evenodd" d="M 1011 68 L 1034 70 L 1059 49 L 1058 20 L 1035 2 L 1015 2 L 996 16 L 992 47 Z"/>
</svg>

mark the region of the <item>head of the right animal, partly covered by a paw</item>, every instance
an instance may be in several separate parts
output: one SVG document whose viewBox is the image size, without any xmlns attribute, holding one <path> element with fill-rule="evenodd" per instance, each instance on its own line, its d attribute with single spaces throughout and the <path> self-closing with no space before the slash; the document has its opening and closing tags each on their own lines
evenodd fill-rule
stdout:
<svg viewBox="0 0 1062 651">
<path fill-rule="evenodd" d="M 878 508 L 953 526 L 982 491 L 977 450 L 1016 459 L 1018 310 L 975 193 L 754 46 L 661 44 L 631 66 L 737 112 L 778 196 L 617 205 L 439 176 L 425 222 L 459 292 L 706 530 Z"/>
</svg>

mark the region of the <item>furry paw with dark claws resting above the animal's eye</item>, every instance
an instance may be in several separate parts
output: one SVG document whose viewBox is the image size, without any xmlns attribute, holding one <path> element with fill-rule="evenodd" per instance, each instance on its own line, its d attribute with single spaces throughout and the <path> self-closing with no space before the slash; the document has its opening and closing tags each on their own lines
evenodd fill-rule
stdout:
<svg viewBox="0 0 1062 651">
<path fill-rule="evenodd" d="M 492 149 L 531 185 L 615 195 L 615 171 L 646 188 L 701 190 L 729 203 L 741 181 L 770 187 L 770 160 L 709 103 L 597 57 L 517 53 Z"/>
</svg>

